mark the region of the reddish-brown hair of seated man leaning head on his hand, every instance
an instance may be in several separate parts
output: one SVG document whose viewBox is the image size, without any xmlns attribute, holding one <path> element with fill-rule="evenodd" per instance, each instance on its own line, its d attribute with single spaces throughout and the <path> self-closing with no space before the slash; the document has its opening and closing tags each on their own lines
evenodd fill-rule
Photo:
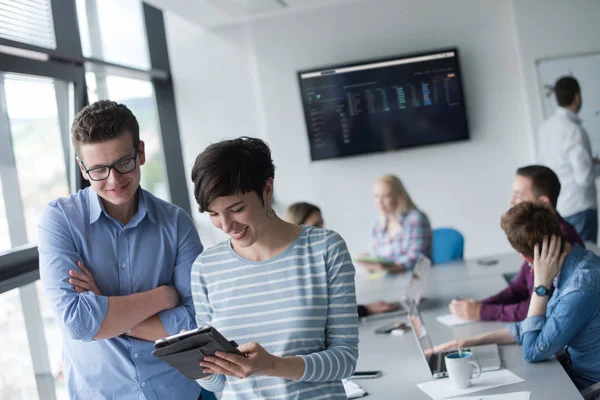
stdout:
<svg viewBox="0 0 600 400">
<path fill-rule="evenodd" d="M 517 204 L 502 216 L 500 226 L 511 246 L 529 258 L 533 258 L 533 249 L 536 244 L 541 245 L 544 236 L 558 236 L 564 244 L 556 214 L 543 202 Z"/>
</svg>

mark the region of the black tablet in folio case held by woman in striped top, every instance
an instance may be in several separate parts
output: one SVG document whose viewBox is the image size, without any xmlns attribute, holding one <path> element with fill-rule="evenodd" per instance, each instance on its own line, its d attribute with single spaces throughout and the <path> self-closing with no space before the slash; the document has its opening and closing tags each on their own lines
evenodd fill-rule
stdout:
<svg viewBox="0 0 600 400">
<path fill-rule="evenodd" d="M 178 333 L 158 339 L 154 343 L 152 355 L 168 363 L 190 379 L 200 379 L 209 374 L 200 362 L 204 356 L 213 356 L 217 351 L 244 356 L 238 349 L 238 344 L 228 341 L 212 326 L 203 326 L 191 331 Z"/>
</svg>

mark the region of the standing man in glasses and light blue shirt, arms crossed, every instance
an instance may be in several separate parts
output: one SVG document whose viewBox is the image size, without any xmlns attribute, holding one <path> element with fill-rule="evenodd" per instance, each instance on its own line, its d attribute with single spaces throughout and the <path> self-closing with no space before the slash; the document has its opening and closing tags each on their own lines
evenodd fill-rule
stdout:
<svg viewBox="0 0 600 400">
<path fill-rule="evenodd" d="M 195 328 L 190 216 L 140 187 L 139 125 L 102 100 L 75 118 L 71 140 L 91 187 L 51 202 L 39 222 L 40 276 L 63 330 L 71 399 L 197 399 L 200 386 L 151 352 Z"/>
</svg>

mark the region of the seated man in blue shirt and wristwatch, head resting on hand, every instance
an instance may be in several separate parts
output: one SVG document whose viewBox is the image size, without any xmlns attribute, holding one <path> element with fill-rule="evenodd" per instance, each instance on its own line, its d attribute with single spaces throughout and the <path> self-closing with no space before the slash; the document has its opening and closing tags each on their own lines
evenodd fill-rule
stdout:
<svg viewBox="0 0 600 400">
<path fill-rule="evenodd" d="M 543 204 L 525 202 L 502 217 L 510 244 L 533 264 L 534 293 L 527 318 L 507 329 L 436 347 L 442 351 L 498 343 L 523 345 L 529 362 L 566 350 L 567 372 L 583 390 L 600 382 L 600 257 L 571 245 L 554 213 Z M 549 296 L 550 287 L 556 289 Z"/>
</svg>

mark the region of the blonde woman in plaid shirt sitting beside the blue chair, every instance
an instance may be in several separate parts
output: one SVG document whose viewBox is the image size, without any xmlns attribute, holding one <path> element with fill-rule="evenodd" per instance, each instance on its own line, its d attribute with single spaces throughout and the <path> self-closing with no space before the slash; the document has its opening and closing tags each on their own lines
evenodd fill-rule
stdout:
<svg viewBox="0 0 600 400">
<path fill-rule="evenodd" d="M 398 177 L 384 175 L 373 186 L 375 205 L 380 217 L 371 228 L 369 257 L 381 262 L 359 261 L 370 271 L 401 273 L 414 267 L 419 253 L 431 258 L 429 218 L 417 209 Z"/>
</svg>

